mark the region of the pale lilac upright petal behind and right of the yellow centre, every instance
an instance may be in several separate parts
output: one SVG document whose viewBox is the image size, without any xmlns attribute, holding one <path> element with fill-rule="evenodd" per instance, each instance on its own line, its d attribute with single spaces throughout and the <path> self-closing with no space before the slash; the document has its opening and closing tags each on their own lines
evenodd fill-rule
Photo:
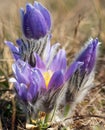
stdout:
<svg viewBox="0 0 105 130">
<path fill-rule="evenodd" d="M 66 53 L 63 49 L 59 50 L 57 55 L 54 57 L 50 69 L 53 71 L 59 71 L 62 72 L 66 69 Z"/>
</svg>

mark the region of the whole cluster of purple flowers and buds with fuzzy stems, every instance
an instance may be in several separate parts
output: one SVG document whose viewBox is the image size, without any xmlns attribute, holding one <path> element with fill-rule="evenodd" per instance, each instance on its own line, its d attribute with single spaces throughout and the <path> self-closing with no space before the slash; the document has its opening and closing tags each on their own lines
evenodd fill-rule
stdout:
<svg viewBox="0 0 105 130">
<path fill-rule="evenodd" d="M 20 12 L 23 36 L 16 41 L 17 46 L 5 42 L 15 59 L 12 66 L 15 78 L 11 78 L 11 82 L 18 99 L 26 106 L 31 104 L 35 114 L 37 111 L 51 112 L 56 103 L 57 106 L 62 104 L 58 99 L 66 105 L 75 100 L 81 88 L 91 88 L 86 84 L 94 77 L 99 42 L 97 38 L 90 39 L 68 66 L 60 44 L 50 45 L 49 11 L 35 2 L 34 5 L 27 4 L 26 10 Z"/>
</svg>

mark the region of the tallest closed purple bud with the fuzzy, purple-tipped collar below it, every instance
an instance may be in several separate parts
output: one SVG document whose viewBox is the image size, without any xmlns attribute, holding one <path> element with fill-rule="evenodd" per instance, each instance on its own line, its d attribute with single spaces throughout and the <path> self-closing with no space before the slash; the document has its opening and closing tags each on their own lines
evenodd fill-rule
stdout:
<svg viewBox="0 0 105 130">
<path fill-rule="evenodd" d="M 43 55 L 43 50 L 51 37 L 51 17 L 49 11 L 40 3 L 26 5 L 26 11 L 21 9 L 22 31 L 24 36 L 16 40 L 17 46 L 5 41 L 9 46 L 15 60 L 21 59 L 35 67 L 33 53 Z"/>
</svg>

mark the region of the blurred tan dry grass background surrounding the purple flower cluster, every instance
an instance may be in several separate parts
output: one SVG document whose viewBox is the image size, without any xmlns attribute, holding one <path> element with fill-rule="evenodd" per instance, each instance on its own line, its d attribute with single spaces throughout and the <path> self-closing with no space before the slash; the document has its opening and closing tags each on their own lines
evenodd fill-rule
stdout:
<svg viewBox="0 0 105 130">
<path fill-rule="evenodd" d="M 81 111 L 77 113 L 105 115 L 105 0 L 37 1 L 45 5 L 51 12 L 53 36 L 51 43 L 61 43 L 62 47 L 66 49 L 68 63 L 90 37 L 98 37 L 102 43 L 96 66 L 95 84 L 98 87 L 87 95 L 82 104 L 78 105 L 77 111 Z M 34 0 L 0 0 L 0 99 L 2 100 L 8 98 L 8 90 L 12 89 L 8 79 L 12 74 L 13 62 L 9 48 L 4 41 L 15 43 L 16 39 L 21 37 L 19 9 L 25 8 L 27 2 L 33 3 Z M 0 105 L 3 107 L 2 103 Z M 91 123 L 95 127 L 87 124 L 86 130 L 89 126 L 89 130 L 104 130 L 103 120 L 95 119 Z M 80 122 L 79 124 L 83 125 Z"/>
</svg>

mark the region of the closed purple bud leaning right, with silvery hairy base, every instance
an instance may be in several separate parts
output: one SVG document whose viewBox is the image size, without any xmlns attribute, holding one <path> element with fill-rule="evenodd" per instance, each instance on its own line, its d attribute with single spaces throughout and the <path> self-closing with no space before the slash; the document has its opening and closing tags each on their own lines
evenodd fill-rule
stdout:
<svg viewBox="0 0 105 130">
<path fill-rule="evenodd" d="M 89 40 L 69 69 L 76 66 L 75 62 L 82 64 L 76 67 L 77 69 L 72 76 L 68 74 L 69 71 L 66 72 L 65 79 L 68 85 L 66 85 L 63 105 L 66 103 L 71 105 L 71 103 L 80 102 L 91 87 L 93 87 L 92 83 L 94 80 L 94 68 L 97 60 L 98 47 L 99 42 L 97 38 Z"/>
</svg>

